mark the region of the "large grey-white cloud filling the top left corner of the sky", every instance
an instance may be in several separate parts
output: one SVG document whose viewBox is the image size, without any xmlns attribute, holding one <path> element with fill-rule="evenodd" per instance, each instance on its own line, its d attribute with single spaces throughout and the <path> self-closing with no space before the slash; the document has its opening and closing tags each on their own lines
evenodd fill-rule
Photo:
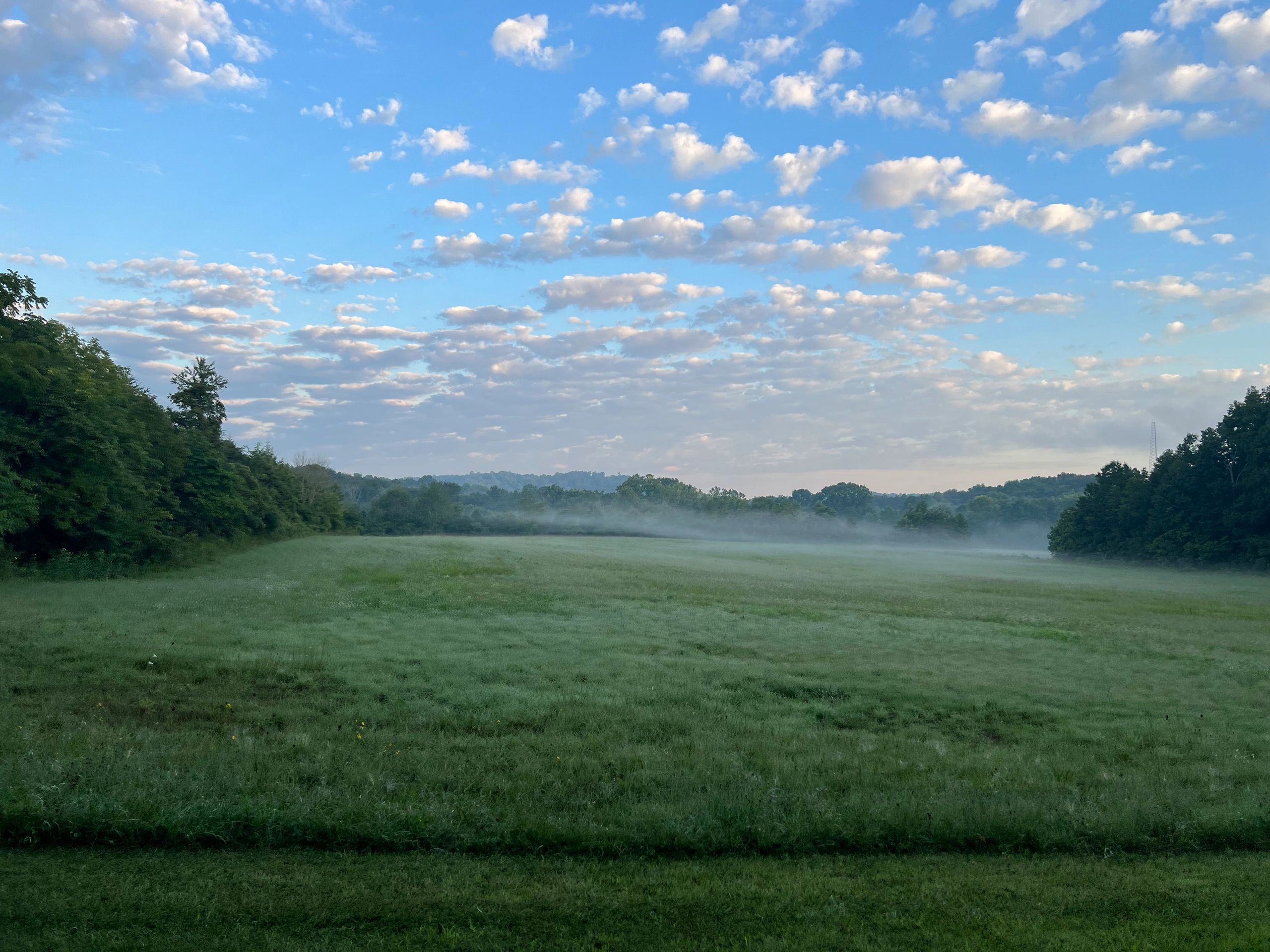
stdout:
<svg viewBox="0 0 1270 952">
<path fill-rule="evenodd" d="M 0 131 L 24 156 L 65 145 L 60 100 L 122 86 L 142 96 L 246 93 L 264 81 L 248 67 L 273 50 L 208 0 L 42 0 L 6 4 L 0 19 Z M 216 60 L 222 62 L 216 63 Z"/>
</svg>

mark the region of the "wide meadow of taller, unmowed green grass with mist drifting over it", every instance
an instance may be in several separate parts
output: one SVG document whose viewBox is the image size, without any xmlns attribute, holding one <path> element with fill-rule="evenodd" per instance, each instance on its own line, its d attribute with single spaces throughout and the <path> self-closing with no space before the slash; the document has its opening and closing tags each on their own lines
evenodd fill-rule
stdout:
<svg viewBox="0 0 1270 952">
<path fill-rule="evenodd" d="M 1270 847 L 1264 576 L 330 537 L 0 603 L 9 844 Z"/>
</svg>

